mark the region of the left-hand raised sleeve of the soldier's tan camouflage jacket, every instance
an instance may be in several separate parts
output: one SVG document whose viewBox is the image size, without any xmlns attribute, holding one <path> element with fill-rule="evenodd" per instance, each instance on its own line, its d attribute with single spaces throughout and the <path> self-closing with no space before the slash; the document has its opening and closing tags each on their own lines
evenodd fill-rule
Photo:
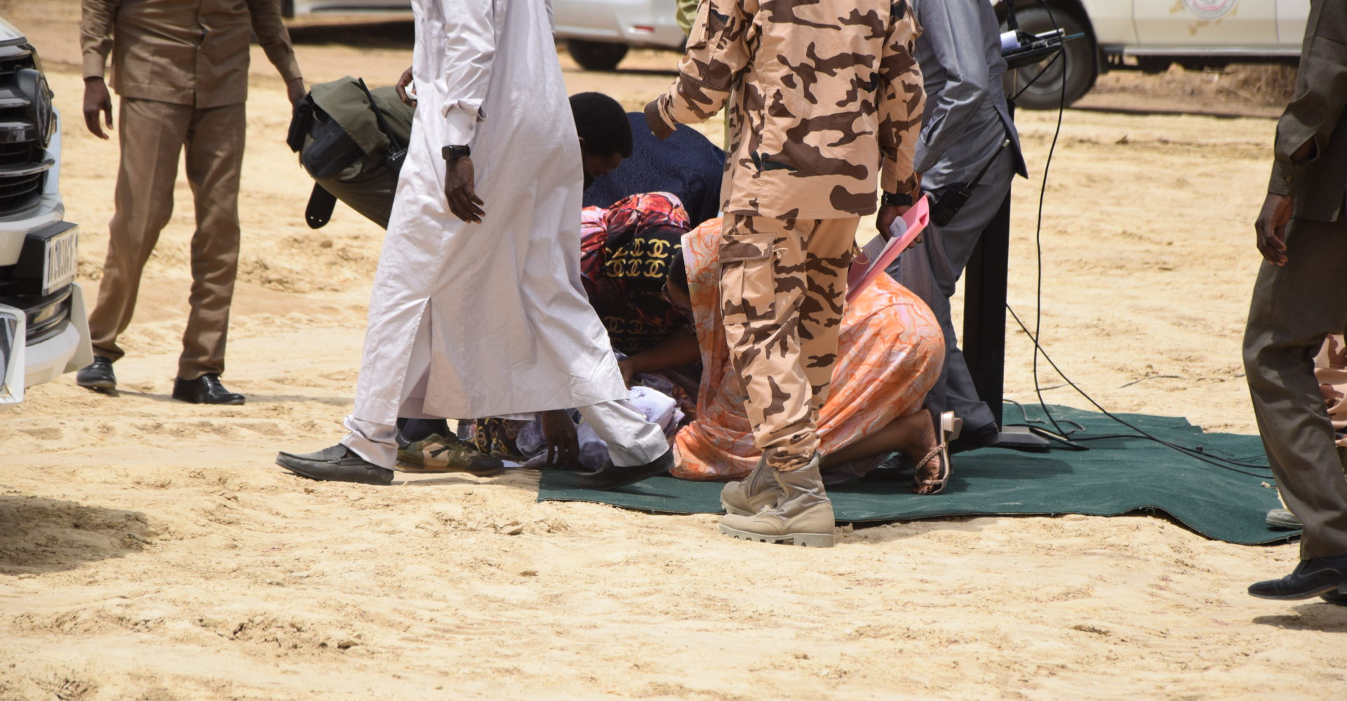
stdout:
<svg viewBox="0 0 1347 701">
<path fill-rule="evenodd" d="M 748 66 L 757 0 L 703 0 L 688 35 L 687 52 L 678 65 L 678 78 L 660 96 L 660 116 L 669 126 L 706 121 L 721 112 L 735 81 Z"/>
</svg>

